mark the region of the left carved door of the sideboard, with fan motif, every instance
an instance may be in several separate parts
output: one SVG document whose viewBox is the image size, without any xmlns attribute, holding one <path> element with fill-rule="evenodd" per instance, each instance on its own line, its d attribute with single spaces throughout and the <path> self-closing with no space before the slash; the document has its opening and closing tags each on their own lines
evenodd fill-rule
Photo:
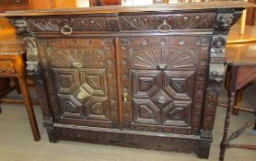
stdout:
<svg viewBox="0 0 256 161">
<path fill-rule="evenodd" d="M 55 121 L 118 127 L 113 40 L 48 39 L 39 43 Z"/>
</svg>

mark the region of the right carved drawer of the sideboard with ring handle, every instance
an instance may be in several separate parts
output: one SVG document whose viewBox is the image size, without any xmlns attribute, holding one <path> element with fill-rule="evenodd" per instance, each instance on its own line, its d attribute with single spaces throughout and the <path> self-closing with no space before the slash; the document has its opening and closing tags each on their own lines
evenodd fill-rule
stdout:
<svg viewBox="0 0 256 161">
<path fill-rule="evenodd" d="M 215 13 L 123 15 L 118 17 L 118 21 L 121 30 L 169 32 L 172 29 L 213 29 Z"/>
</svg>

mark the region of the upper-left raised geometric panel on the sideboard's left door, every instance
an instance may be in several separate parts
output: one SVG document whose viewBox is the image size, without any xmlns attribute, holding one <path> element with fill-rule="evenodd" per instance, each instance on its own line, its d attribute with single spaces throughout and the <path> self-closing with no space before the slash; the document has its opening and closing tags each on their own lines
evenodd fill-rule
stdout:
<svg viewBox="0 0 256 161">
<path fill-rule="evenodd" d="M 79 75 L 77 69 L 52 68 L 54 80 L 58 93 L 70 95 L 79 86 Z"/>
</svg>

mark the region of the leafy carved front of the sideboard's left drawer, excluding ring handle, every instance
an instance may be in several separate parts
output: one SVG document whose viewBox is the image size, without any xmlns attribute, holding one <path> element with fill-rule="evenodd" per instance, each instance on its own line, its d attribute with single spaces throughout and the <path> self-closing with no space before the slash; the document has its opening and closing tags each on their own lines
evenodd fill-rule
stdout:
<svg viewBox="0 0 256 161">
<path fill-rule="evenodd" d="M 32 32 L 60 32 L 64 26 L 76 31 L 118 31 L 117 17 L 29 17 Z"/>
</svg>

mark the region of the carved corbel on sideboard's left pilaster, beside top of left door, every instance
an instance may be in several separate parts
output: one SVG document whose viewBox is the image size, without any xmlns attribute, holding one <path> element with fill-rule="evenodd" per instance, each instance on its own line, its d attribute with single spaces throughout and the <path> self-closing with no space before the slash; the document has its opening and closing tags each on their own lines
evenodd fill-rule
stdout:
<svg viewBox="0 0 256 161">
<path fill-rule="evenodd" d="M 27 45 L 27 72 L 28 75 L 39 75 L 38 68 L 38 49 L 37 42 L 34 37 L 26 37 Z"/>
</svg>

